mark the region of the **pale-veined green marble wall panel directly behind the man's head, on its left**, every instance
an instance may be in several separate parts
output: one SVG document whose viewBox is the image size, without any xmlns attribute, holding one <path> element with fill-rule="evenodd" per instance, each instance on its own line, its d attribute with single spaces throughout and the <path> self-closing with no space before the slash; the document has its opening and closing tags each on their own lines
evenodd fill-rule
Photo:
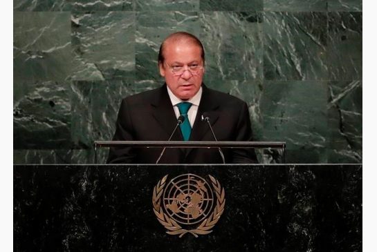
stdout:
<svg viewBox="0 0 377 252">
<path fill-rule="evenodd" d="M 165 37 L 185 31 L 199 37 L 197 12 L 137 12 L 136 13 L 136 81 L 161 84 L 158 71 L 158 50 Z"/>
</svg>

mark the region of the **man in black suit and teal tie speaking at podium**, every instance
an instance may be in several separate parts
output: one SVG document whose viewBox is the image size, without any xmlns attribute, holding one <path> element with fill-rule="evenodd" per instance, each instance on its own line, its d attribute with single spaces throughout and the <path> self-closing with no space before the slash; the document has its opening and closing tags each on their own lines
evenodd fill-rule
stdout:
<svg viewBox="0 0 377 252">
<path fill-rule="evenodd" d="M 185 119 L 172 141 L 214 141 L 203 113 L 210 117 L 219 141 L 251 141 L 248 107 L 244 101 L 202 84 L 205 71 L 201 41 L 187 32 L 169 35 L 160 46 L 158 67 L 165 84 L 122 100 L 114 141 L 167 141 L 177 119 Z M 250 148 L 223 148 L 226 163 L 255 163 Z M 108 163 L 154 164 L 162 148 L 110 148 Z M 160 164 L 222 163 L 218 148 L 166 148 Z"/>
</svg>

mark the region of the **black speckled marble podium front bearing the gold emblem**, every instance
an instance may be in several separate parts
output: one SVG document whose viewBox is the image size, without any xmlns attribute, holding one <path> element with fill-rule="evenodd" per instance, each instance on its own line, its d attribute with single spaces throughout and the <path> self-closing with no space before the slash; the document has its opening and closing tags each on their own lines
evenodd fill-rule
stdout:
<svg viewBox="0 0 377 252">
<path fill-rule="evenodd" d="M 163 199 L 195 206 L 194 192 L 174 194 L 186 179 L 196 193 L 212 188 L 214 207 L 169 234 L 175 203 Z M 15 251 L 362 250 L 361 164 L 15 165 L 13 183 Z M 194 235 L 214 209 L 211 232 Z"/>
</svg>

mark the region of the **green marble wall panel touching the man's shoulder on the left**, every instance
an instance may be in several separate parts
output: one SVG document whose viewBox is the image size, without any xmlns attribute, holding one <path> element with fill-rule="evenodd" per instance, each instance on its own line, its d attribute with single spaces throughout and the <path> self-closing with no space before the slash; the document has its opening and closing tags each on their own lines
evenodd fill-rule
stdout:
<svg viewBox="0 0 377 252">
<path fill-rule="evenodd" d="M 90 149 L 95 140 L 113 139 L 120 101 L 131 94 L 130 82 L 75 81 L 72 89 L 72 139 L 75 148 Z"/>
</svg>

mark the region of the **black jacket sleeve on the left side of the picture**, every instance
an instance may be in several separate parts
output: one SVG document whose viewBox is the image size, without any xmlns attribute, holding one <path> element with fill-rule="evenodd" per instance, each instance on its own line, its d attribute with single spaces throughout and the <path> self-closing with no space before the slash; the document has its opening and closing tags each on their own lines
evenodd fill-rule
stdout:
<svg viewBox="0 0 377 252">
<path fill-rule="evenodd" d="M 116 120 L 116 132 L 113 141 L 134 140 L 129 109 L 127 99 L 123 99 L 122 104 L 120 104 L 118 119 Z M 107 158 L 107 164 L 131 164 L 134 163 L 135 157 L 136 153 L 134 148 L 111 147 L 109 150 L 109 157 Z"/>
</svg>

